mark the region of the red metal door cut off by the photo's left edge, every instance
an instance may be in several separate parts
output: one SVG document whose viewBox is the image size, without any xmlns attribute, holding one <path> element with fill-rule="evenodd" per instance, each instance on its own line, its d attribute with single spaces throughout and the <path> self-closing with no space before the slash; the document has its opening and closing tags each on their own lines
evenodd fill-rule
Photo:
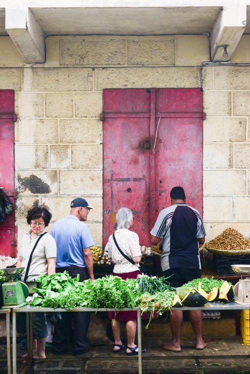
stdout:
<svg viewBox="0 0 250 374">
<path fill-rule="evenodd" d="M 14 204 L 14 91 L 0 90 L 0 187 Z M 15 256 L 14 211 L 0 223 L 0 255 Z"/>
</svg>

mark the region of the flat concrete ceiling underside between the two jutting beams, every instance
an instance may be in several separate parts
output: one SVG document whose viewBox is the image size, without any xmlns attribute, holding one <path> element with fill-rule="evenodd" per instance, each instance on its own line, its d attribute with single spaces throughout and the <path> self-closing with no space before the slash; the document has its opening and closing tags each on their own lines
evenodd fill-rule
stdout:
<svg viewBox="0 0 250 374">
<path fill-rule="evenodd" d="M 31 8 L 45 34 L 206 33 L 220 7 Z"/>
</svg>

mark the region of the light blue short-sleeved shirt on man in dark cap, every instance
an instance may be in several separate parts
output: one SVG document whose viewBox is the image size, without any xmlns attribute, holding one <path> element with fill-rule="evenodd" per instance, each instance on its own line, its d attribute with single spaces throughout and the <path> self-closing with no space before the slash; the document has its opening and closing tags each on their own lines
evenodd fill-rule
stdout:
<svg viewBox="0 0 250 374">
<path fill-rule="evenodd" d="M 56 268 L 85 268 L 82 250 L 94 245 L 88 226 L 77 217 L 68 215 L 54 222 L 50 235 L 56 242 Z"/>
</svg>

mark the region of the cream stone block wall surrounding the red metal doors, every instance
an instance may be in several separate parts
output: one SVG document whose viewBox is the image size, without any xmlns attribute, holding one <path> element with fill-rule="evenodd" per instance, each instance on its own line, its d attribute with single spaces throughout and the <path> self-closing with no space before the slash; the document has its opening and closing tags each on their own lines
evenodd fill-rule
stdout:
<svg viewBox="0 0 250 374">
<path fill-rule="evenodd" d="M 242 37 L 232 61 L 249 62 L 249 40 L 249 35 Z M 49 36 L 45 64 L 26 65 L 11 40 L 2 36 L 0 55 L 0 89 L 15 90 L 18 116 L 18 241 L 30 206 L 48 206 L 54 221 L 67 214 L 74 197 L 84 196 L 95 207 L 88 223 L 101 245 L 103 88 L 199 87 L 200 64 L 209 60 L 207 37 Z M 250 233 L 249 69 L 202 69 L 208 239 L 229 224 Z"/>
</svg>

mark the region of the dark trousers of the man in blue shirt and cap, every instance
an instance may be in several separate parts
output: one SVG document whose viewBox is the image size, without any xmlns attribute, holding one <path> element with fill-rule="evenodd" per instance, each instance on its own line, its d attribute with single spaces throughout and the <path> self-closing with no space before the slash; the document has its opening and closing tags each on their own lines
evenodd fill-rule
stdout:
<svg viewBox="0 0 250 374">
<path fill-rule="evenodd" d="M 56 273 L 68 272 L 70 277 L 74 278 L 77 274 L 80 276 L 80 282 L 88 279 L 86 268 L 69 266 L 66 268 L 56 268 Z M 90 321 L 89 312 L 62 312 L 62 319 L 54 327 L 53 349 L 58 353 L 66 350 L 69 337 L 72 336 L 72 352 L 88 350 L 87 329 Z"/>
</svg>

